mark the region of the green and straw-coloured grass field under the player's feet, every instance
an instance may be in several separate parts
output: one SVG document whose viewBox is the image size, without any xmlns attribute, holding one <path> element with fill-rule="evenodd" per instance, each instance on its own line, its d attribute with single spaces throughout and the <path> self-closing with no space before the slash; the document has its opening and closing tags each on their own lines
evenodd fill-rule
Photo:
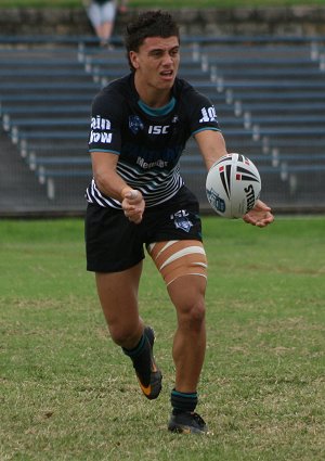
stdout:
<svg viewBox="0 0 325 461">
<path fill-rule="evenodd" d="M 176 316 L 145 260 L 164 389 L 147 401 L 84 270 L 79 219 L 0 221 L 0 460 L 323 461 L 325 218 L 204 219 L 210 436 L 169 434 Z"/>
</svg>

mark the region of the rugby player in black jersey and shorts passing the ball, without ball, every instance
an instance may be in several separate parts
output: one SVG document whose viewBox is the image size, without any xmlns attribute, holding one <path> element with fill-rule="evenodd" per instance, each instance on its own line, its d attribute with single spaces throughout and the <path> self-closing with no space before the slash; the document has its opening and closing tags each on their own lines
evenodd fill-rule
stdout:
<svg viewBox="0 0 325 461">
<path fill-rule="evenodd" d="M 177 76 L 180 35 L 169 13 L 141 14 L 127 27 L 126 48 L 131 73 L 104 88 L 92 106 L 88 270 L 95 272 L 113 341 L 130 357 L 145 397 L 155 399 L 161 389 L 155 336 L 138 305 L 145 245 L 177 310 L 168 428 L 206 433 L 195 408 L 206 348 L 207 258 L 198 202 L 179 161 L 194 137 L 209 169 L 226 154 L 225 142 L 211 102 Z M 265 227 L 273 216 L 258 201 L 244 220 Z"/>
</svg>

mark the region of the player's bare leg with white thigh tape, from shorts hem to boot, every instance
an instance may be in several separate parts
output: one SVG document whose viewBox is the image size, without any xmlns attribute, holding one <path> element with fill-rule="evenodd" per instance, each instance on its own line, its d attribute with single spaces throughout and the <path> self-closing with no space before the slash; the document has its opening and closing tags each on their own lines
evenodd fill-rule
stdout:
<svg viewBox="0 0 325 461">
<path fill-rule="evenodd" d="M 202 242 L 195 240 L 153 243 L 148 251 L 167 283 L 178 316 L 172 348 L 176 386 L 171 392 L 168 427 L 172 432 L 205 433 L 206 423 L 194 412 L 206 350 L 205 251 Z"/>
</svg>

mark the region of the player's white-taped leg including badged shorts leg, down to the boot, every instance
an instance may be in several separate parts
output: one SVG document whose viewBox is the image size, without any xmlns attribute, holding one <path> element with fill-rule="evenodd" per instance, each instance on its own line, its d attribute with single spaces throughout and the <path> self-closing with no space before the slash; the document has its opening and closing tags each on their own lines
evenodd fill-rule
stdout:
<svg viewBox="0 0 325 461">
<path fill-rule="evenodd" d="M 166 282 L 178 316 L 172 348 L 176 386 L 171 392 L 169 430 L 204 433 L 207 425 L 194 412 L 206 348 L 207 258 L 198 202 L 191 191 L 182 188 L 154 218 L 156 233 L 151 236 L 147 251 Z"/>
</svg>

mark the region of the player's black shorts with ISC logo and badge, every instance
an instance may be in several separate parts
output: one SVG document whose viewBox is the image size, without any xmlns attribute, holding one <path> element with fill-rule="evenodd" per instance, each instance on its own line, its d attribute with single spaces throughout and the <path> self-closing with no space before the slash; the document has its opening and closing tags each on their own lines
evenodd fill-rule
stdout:
<svg viewBox="0 0 325 461">
<path fill-rule="evenodd" d="M 121 209 L 88 205 L 87 270 L 129 269 L 144 258 L 144 244 L 170 240 L 202 241 L 198 202 L 185 187 L 168 202 L 146 208 L 140 225 L 130 222 Z"/>
</svg>

